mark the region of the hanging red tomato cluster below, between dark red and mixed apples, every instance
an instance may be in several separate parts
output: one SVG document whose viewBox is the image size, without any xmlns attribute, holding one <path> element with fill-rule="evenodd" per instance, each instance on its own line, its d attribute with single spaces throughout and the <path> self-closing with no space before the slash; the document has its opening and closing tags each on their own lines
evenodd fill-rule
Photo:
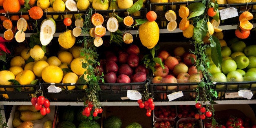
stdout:
<svg viewBox="0 0 256 128">
<path fill-rule="evenodd" d="M 143 102 L 142 99 L 137 100 L 137 103 L 139 104 L 139 108 L 145 108 L 147 110 L 146 115 L 148 117 L 151 116 L 152 110 L 154 110 L 154 102 L 152 98 L 149 98 L 145 102 Z"/>
</svg>

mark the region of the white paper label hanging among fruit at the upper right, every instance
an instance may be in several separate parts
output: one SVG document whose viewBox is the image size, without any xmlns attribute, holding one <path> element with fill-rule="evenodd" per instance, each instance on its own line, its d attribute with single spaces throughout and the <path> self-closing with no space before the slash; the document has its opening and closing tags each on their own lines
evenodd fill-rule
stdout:
<svg viewBox="0 0 256 128">
<path fill-rule="evenodd" d="M 221 9 L 219 11 L 220 11 L 221 20 L 225 20 L 228 18 L 233 18 L 233 17 L 238 16 L 237 9 L 234 7 L 230 7 L 227 9 Z"/>
</svg>

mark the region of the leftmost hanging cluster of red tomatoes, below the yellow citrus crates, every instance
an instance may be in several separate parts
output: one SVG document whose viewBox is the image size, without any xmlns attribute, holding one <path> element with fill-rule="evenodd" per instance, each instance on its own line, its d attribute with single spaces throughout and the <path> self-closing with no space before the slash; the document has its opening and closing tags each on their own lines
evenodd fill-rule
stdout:
<svg viewBox="0 0 256 128">
<path fill-rule="evenodd" d="M 50 110 L 50 102 L 48 99 L 45 99 L 44 96 L 32 97 L 31 103 L 35 106 L 36 110 L 40 110 L 41 115 L 46 115 L 51 112 Z"/>
</svg>

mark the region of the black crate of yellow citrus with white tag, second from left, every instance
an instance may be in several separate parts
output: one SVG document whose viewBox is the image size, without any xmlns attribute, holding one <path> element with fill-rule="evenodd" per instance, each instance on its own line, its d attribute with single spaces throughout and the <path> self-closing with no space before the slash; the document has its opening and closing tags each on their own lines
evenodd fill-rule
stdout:
<svg viewBox="0 0 256 128">
<path fill-rule="evenodd" d="M 62 88 L 62 90 L 59 93 L 49 93 L 49 90 L 47 88 L 52 85 L 60 87 Z M 85 90 L 79 88 L 87 88 L 86 85 L 63 83 L 42 83 L 40 84 L 40 86 L 50 102 L 77 102 L 79 99 L 83 99 L 83 97 L 86 95 Z M 66 88 L 64 88 L 63 86 L 65 86 Z M 68 87 L 71 86 L 75 86 L 75 89 L 68 90 Z"/>
</svg>

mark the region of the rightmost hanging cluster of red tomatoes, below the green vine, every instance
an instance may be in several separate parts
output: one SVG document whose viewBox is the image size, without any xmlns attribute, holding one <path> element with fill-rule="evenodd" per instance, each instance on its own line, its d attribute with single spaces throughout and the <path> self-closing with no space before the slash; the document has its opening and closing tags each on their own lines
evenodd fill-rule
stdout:
<svg viewBox="0 0 256 128">
<path fill-rule="evenodd" d="M 198 108 L 201 112 L 201 114 L 197 113 L 194 115 L 196 119 L 205 119 L 206 117 L 212 116 L 212 112 L 210 110 L 206 110 L 206 108 L 203 107 L 201 103 L 197 102 L 195 107 Z"/>
</svg>

